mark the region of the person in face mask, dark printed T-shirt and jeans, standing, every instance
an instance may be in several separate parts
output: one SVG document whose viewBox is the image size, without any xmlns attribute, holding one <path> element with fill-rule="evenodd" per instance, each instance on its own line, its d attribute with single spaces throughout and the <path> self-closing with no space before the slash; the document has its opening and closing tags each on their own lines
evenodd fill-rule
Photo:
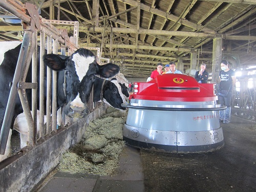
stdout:
<svg viewBox="0 0 256 192">
<path fill-rule="evenodd" d="M 231 114 L 231 96 L 232 87 L 236 86 L 236 76 L 233 70 L 229 69 L 227 60 L 221 61 L 221 71 L 219 74 L 220 86 L 218 89 L 218 100 L 221 105 L 227 106 L 227 109 L 219 111 L 220 122 L 229 123 Z"/>
</svg>

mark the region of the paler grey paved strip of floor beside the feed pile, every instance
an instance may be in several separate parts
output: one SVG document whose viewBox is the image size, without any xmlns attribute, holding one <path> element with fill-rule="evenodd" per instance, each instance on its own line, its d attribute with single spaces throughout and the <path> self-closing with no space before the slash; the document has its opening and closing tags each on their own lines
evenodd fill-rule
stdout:
<svg viewBox="0 0 256 192">
<path fill-rule="evenodd" d="M 125 145 L 119 157 L 119 167 L 112 176 L 67 174 L 57 172 L 37 192 L 142 192 L 144 176 L 139 150 Z"/>
</svg>

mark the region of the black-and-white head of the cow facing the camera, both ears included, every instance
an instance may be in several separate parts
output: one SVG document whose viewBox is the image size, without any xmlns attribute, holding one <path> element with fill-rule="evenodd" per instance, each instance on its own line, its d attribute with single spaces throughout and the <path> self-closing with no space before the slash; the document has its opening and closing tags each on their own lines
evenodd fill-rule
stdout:
<svg viewBox="0 0 256 192">
<path fill-rule="evenodd" d="M 119 72 L 119 67 L 113 63 L 98 65 L 95 55 L 84 48 L 78 49 L 71 56 L 44 55 L 44 62 L 49 68 L 58 71 L 58 106 L 66 103 L 64 111 L 70 117 L 83 117 L 87 114 L 92 78 L 96 74 L 112 77 Z M 82 80 L 86 83 L 81 83 Z"/>
</svg>

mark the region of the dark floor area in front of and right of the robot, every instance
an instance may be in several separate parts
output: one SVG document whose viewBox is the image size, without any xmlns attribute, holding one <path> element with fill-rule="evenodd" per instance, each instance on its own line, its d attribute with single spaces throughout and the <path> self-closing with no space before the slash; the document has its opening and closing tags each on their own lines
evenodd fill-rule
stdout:
<svg viewBox="0 0 256 192">
<path fill-rule="evenodd" d="M 202 154 L 141 150 L 146 192 L 256 191 L 256 122 L 232 116 L 225 146 Z"/>
</svg>

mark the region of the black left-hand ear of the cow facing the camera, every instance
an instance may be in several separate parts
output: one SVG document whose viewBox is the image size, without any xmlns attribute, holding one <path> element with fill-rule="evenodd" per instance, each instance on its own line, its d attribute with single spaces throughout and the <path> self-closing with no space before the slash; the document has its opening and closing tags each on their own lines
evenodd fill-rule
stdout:
<svg viewBox="0 0 256 192">
<path fill-rule="evenodd" d="M 55 71 L 59 71 L 66 68 L 66 59 L 65 55 L 56 55 L 56 54 L 47 54 L 44 55 L 44 63 L 49 68 Z"/>
</svg>

